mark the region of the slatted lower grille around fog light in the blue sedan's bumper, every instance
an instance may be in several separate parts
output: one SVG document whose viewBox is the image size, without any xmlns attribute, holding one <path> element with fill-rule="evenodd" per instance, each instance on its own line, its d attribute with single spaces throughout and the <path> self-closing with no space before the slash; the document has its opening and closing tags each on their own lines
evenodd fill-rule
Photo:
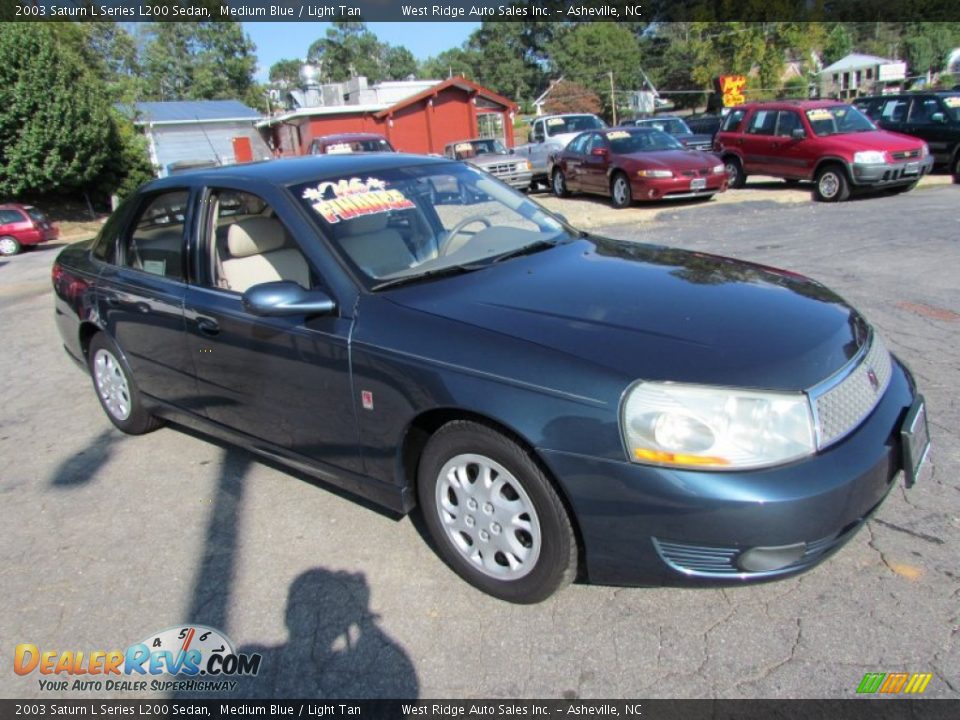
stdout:
<svg viewBox="0 0 960 720">
<path fill-rule="evenodd" d="M 671 542 L 652 538 L 653 546 L 656 548 L 664 562 L 670 565 L 674 570 L 685 575 L 700 575 L 708 577 L 727 577 L 737 575 L 765 575 L 770 573 L 786 573 L 794 570 L 802 570 L 805 567 L 813 565 L 824 555 L 834 548 L 845 543 L 860 528 L 866 516 L 850 523 L 847 527 L 838 533 L 828 535 L 819 540 L 811 540 L 806 543 L 803 551 L 803 557 L 791 565 L 787 565 L 778 570 L 772 570 L 768 573 L 745 572 L 737 567 L 737 557 L 750 548 L 748 547 L 720 547 L 712 545 L 690 545 L 687 543 Z"/>
</svg>

